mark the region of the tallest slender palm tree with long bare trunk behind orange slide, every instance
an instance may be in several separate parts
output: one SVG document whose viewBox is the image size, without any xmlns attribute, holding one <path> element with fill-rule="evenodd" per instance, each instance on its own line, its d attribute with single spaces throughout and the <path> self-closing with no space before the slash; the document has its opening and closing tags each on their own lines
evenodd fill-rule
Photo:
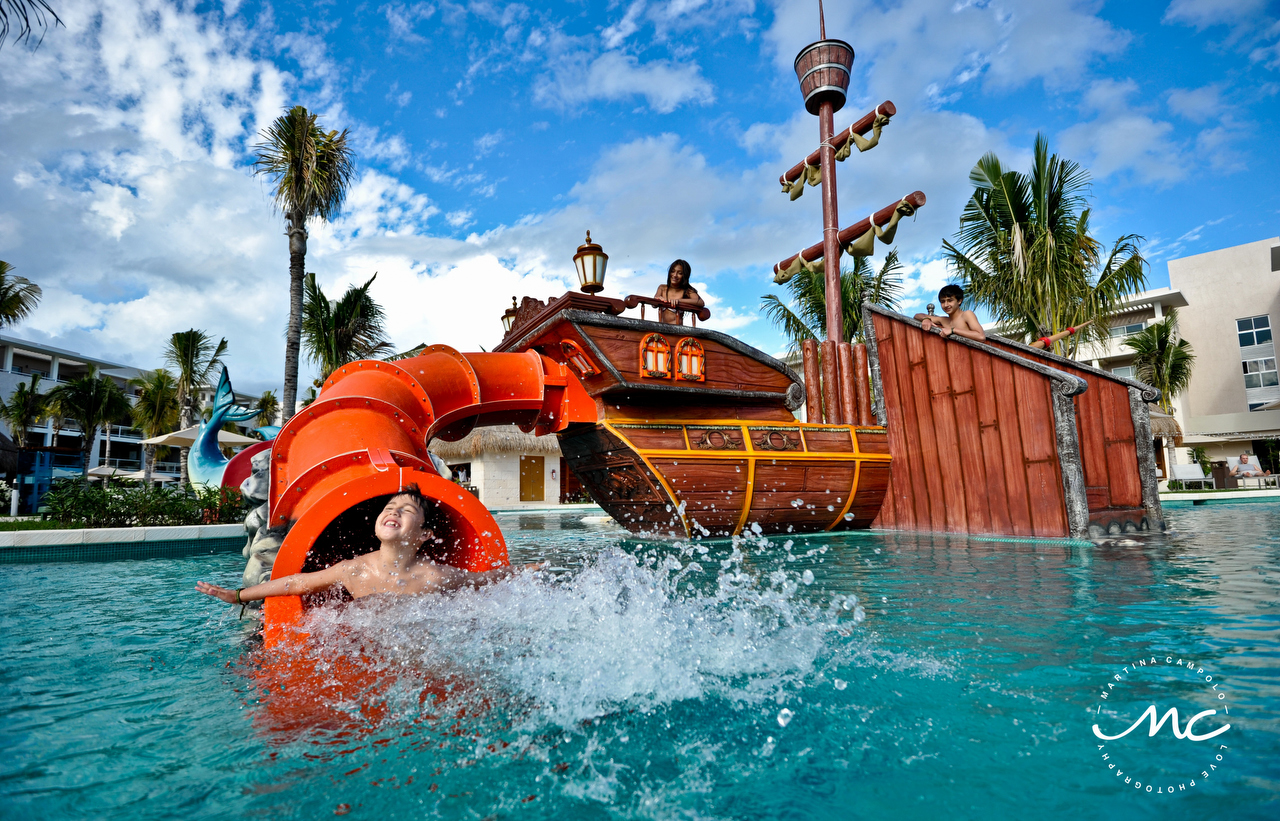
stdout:
<svg viewBox="0 0 1280 821">
<path fill-rule="evenodd" d="M 307 222 L 329 222 L 342 210 L 355 175 L 347 131 L 325 132 L 316 115 L 296 105 L 262 131 L 255 146 L 253 172 L 274 186 L 275 207 L 284 214 L 289 236 L 289 327 L 284 338 L 285 418 L 293 415 L 298 394 L 298 351 L 302 333 L 302 278 L 307 257 Z"/>
</svg>

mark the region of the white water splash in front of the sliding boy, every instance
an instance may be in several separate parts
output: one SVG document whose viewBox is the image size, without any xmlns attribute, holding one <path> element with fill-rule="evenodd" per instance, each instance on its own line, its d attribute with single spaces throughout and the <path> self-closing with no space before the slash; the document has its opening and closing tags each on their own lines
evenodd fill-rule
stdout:
<svg viewBox="0 0 1280 821">
<path fill-rule="evenodd" d="M 864 614 L 847 608 L 856 597 L 823 607 L 799 594 L 813 584 L 808 569 L 746 566 L 748 546 L 735 542 L 710 569 L 701 543 L 611 547 L 576 573 L 317 608 L 308 629 L 323 656 L 426 672 L 456 697 L 502 702 L 526 730 L 681 701 L 781 701 Z M 394 712 L 412 712 L 402 701 Z"/>
</svg>

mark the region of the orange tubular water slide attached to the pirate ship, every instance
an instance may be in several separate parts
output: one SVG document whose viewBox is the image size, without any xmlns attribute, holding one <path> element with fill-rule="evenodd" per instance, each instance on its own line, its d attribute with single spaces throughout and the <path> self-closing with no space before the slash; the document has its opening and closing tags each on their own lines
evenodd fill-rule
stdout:
<svg viewBox="0 0 1280 821">
<path fill-rule="evenodd" d="M 269 524 L 289 528 L 271 578 L 375 548 L 372 507 L 411 483 L 436 506 L 430 514 L 444 543 L 434 558 L 472 571 L 503 566 L 498 524 L 471 493 L 439 475 L 428 444 L 456 442 L 481 425 L 516 424 L 543 435 L 595 420 L 595 402 L 577 377 L 535 351 L 460 354 L 433 345 L 412 359 L 344 365 L 271 447 Z M 297 596 L 269 598 L 268 643 L 302 610 Z"/>
</svg>

